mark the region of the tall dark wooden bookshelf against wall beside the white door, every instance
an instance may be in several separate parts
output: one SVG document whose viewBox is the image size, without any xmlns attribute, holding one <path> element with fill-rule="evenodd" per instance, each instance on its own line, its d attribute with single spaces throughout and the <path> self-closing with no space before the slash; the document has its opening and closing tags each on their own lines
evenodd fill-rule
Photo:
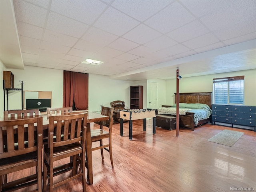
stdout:
<svg viewBox="0 0 256 192">
<path fill-rule="evenodd" d="M 143 86 L 130 86 L 130 109 L 143 109 Z"/>
</svg>

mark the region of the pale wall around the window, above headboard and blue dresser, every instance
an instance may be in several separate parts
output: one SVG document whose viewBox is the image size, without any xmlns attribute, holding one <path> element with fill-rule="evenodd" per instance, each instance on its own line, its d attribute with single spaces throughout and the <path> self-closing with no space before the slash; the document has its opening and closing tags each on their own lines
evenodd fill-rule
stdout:
<svg viewBox="0 0 256 192">
<path fill-rule="evenodd" d="M 180 72 L 182 75 L 182 72 Z M 244 105 L 256 106 L 256 69 L 204 76 L 188 77 L 180 80 L 182 92 L 212 92 L 213 78 L 223 78 L 244 75 Z M 166 80 L 166 105 L 174 104 L 176 93 L 176 79 Z"/>
</svg>

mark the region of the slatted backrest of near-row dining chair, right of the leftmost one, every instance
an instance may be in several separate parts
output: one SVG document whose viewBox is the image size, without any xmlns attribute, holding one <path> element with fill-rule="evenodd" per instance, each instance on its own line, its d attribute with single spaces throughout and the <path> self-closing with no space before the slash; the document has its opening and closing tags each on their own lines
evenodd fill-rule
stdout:
<svg viewBox="0 0 256 192">
<path fill-rule="evenodd" d="M 53 140 L 53 147 L 64 146 L 82 140 L 82 128 L 86 126 L 87 113 L 49 116 L 49 136 Z M 55 125 L 54 125 L 55 124 Z M 50 148 L 51 139 L 48 139 Z"/>
</svg>

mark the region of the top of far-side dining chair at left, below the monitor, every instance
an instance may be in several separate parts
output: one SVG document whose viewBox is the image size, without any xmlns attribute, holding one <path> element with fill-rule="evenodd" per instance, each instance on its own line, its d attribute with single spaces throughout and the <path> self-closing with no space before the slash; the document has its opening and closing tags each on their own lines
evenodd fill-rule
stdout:
<svg viewBox="0 0 256 192">
<path fill-rule="evenodd" d="M 4 120 L 11 119 L 21 119 L 21 118 L 28 118 L 28 117 L 36 117 L 39 115 L 38 109 L 27 109 L 27 110 L 10 110 L 4 111 Z"/>
</svg>

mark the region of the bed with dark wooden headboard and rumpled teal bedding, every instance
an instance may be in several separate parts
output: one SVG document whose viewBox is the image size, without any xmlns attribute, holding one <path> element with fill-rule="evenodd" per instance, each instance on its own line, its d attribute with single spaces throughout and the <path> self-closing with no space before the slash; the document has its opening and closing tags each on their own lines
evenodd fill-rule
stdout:
<svg viewBox="0 0 256 192">
<path fill-rule="evenodd" d="M 175 95 L 175 104 L 176 104 L 176 93 Z M 186 105 L 188 104 L 188 105 Z M 199 104 L 199 108 L 208 108 L 211 112 L 212 108 L 212 92 L 193 92 L 193 93 L 180 93 L 180 110 L 184 108 L 184 106 L 188 107 L 183 111 L 180 111 L 180 126 L 191 128 L 194 131 L 196 126 L 202 125 L 204 123 L 210 122 L 211 115 L 205 116 L 204 118 L 196 117 L 197 113 L 195 110 L 197 108 L 192 108 L 193 105 L 191 104 Z M 203 104 L 203 105 L 200 105 Z M 208 106 L 208 107 L 207 107 Z M 163 105 L 162 107 L 169 108 L 172 106 Z M 176 108 L 176 105 L 173 106 Z M 175 110 L 176 112 L 176 110 Z M 158 109 L 158 114 L 161 112 Z M 164 115 L 176 115 L 176 114 L 164 114 Z"/>
</svg>

